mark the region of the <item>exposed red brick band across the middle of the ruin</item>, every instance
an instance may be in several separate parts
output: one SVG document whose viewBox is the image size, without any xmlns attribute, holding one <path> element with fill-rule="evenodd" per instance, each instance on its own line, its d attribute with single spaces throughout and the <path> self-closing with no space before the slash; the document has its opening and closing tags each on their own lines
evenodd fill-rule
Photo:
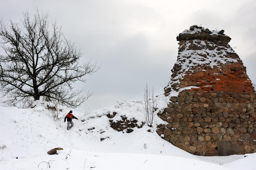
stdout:
<svg viewBox="0 0 256 170">
<path fill-rule="evenodd" d="M 191 91 L 255 92 L 241 62 L 222 64 L 221 67 L 207 67 L 204 70 L 206 71 L 187 72 L 180 82 L 180 88 L 198 86 L 200 88 L 191 88 Z"/>
</svg>

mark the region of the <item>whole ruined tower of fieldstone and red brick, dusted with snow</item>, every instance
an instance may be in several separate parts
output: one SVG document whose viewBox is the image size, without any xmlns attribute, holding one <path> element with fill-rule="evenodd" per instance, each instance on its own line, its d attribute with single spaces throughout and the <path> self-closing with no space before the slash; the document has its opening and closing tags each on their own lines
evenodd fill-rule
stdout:
<svg viewBox="0 0 256 170">
<path fill-rule="evenodd" d="M 157 133 L 194 155 L 256 152 L 256 93 L 224 30 L 193 25 L 177 36 L 179 51 L 164 88 L 169 104 Z"/>
</svg>

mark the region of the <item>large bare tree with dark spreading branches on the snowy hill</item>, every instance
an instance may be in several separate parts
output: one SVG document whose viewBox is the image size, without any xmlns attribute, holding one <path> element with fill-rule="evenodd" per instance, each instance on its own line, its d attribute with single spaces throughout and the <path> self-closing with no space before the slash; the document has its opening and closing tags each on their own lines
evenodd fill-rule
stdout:
<svg viewBox="0 0 256 170">
<path fill-rule="evenodd" d="M 80 49 L 68 41 L 56 22 L 49 24 L 48 13 L 36 11 L 31 17 L 23 13 L 20 23 L 0 21 L 0 86 L 6 102 L 17 105 L 33 97 L 55 100 L 68 107 L 77 107 L 92 93 L 80 95 L 74 82 L 85 82 L 84 75 L 98 70 L 90 62 L 79 64 Z M 19 24 L 22 24 L 20 26 Z M 51 25 L 51 29 L 49 29 Z"/>
</svg>

